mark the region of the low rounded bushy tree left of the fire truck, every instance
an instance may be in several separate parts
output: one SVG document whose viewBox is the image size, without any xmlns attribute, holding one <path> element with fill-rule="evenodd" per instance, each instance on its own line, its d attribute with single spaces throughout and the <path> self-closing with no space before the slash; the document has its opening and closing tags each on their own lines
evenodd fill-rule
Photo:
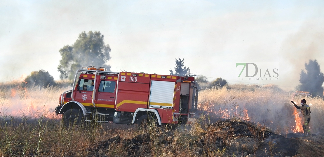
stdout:
<svg viewBox="0 0 324 157">
<path fill-rule="evenodd" d="M 39 70 L 33 71 L 22 82 L 22 87 L 41 86 L 50 87 L 56 85 L 53 76 L 47 71 Z"/>
</svg>

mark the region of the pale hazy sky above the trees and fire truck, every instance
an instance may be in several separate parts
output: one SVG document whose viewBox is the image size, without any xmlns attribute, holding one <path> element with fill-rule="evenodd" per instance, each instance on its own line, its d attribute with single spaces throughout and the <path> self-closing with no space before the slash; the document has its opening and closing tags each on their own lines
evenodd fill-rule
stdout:
<svg viewBox="0 0 324 157">
<path fill-rule="evenodd" d="M 58 80 L 59 49 L 82 31 L 100 31 L 111 71 L 169 74 L 184 58 L 191 74 L 209 80 L 293 89 L 309 59 L 324 69 L 323 8 L 320 0 L 0 0 L 0 82 L 41 69 Z M 279 80 L 238 81 L 236 63 L 270 72 L 276 64 Z"/>
</svg>

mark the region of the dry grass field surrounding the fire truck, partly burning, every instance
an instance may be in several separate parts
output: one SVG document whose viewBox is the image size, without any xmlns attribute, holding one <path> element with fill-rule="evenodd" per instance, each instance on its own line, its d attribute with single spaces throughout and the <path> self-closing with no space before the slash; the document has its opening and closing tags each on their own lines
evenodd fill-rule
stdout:
<svg viewBox="0 0 324 157">
<path fill-rule="evenodd" d="M 113 123 L 67 129 L 61 115 L 53 111 L 59 95 L 69 88 L 21 89 L 14 82 L 0 86 L 0 156 L 236 156 L 240 152 L 227 152 L 233 133 L 210 129 L 209 123 L 250 121 L 260 128 L 248 131 L 259 134 L 265 130 L 284 136 L 302 132 L 301 114 L 290 101 L 298 104 L 304 97 L 292 97 L 271 86 L 233 85 L 200 91 L 197 119 L 176 130 L 155 126 L 143 130 Z M 312 104 L 311 130 L 319 134 L 323 132 L 324 101 L 319 97 L 305 99 Z M 109 141 L 114 135 L 119 140 Z"/>
</svg>

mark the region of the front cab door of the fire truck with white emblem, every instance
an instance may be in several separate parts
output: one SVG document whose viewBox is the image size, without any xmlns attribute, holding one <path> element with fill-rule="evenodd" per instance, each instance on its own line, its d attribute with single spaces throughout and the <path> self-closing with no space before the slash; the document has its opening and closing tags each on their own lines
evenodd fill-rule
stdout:
<svg viewBox="0 0 324 157">
<path fill-rule="evenodd" d="M 92 91 L 94 80 L 79 79 L 77 91 L 75 92 L 75 101 L 82 103 L 84 106 L 93 106 Z"/>
</svg>

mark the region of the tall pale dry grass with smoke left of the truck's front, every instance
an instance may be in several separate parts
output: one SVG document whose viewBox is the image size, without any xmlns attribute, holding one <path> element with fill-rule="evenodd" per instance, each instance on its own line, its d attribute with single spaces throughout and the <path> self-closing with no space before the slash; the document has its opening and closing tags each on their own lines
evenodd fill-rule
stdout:
<svg viewBox="0 0 324 157">
<path fill-rule="evenodd" d="M 25 119 L 40 118 L 42 116 L 51 119 L 59 119 L 55 115 L 55 107 L 59 105 L 59 96 L 70 89 L 49 87 L 49 88 L 11 88 L 2 90 L 5 97 L 0 97 L 0 115 L 11 114 L 15 117 Z M 10 93 L 10 94 L 8 94 Z"/>
</svg>

